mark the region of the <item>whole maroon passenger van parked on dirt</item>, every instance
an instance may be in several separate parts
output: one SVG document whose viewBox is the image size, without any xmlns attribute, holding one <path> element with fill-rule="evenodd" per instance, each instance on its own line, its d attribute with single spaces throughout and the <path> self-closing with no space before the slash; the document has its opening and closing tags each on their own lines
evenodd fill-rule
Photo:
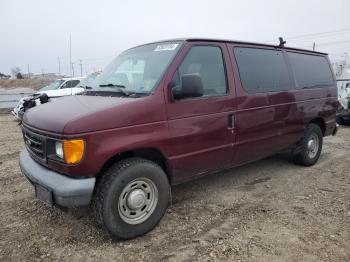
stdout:
<svg viewBox="0 0 350 262">
<path fill-rule="evenodd" d="M 335 134 L 327 54 L 215 39 L 121 53 L 81 95 L 23 118 L 23 174 L 51 205 L 92 204 L 114 238 L 157 225 L 171 185 L 290 149 L 311 166 Z"/>
</svg>

